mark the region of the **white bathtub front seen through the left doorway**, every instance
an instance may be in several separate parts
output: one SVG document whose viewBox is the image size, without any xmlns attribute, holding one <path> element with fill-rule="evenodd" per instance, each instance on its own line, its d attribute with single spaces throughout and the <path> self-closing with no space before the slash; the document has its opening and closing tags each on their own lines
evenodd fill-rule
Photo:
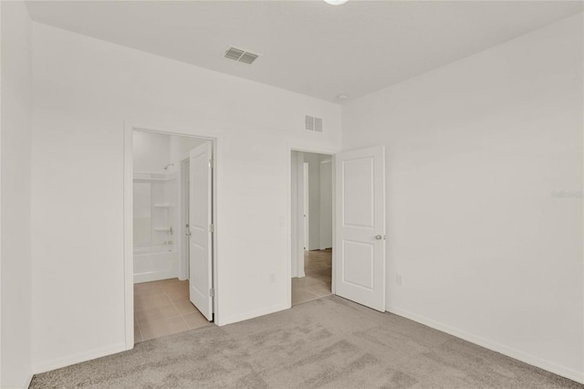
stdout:
<svg viewBox="0 0 584 389">
<path fill-rule="evenodd" d="M 134 283 L 179 277 L 179 253 L 174 245 L 134 247 Z"/>
</svg>

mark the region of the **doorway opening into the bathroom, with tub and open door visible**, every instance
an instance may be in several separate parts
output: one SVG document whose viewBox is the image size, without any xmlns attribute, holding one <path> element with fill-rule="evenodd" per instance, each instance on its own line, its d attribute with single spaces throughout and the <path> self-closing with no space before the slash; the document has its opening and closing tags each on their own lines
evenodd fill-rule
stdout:
<svg viewBox="0 0 584 389">
<path fill-rule="evenodd" d="M 214 140 L 128 128 L 126 143 L 131 348 L 214 321 Z"/>
</svg>

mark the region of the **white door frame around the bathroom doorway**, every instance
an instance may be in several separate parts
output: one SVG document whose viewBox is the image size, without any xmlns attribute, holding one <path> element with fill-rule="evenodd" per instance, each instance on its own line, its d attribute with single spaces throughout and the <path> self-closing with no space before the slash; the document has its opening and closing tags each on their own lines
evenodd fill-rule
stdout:
<svg viewBox="0 0 584 389">
<path fill-rule="evenodd" d="M 219 147 L 219 137 L 215 134 L 209 134 L 198 131 L 190 131 L 186 129 L 165 129 L 150 125 L 138 125 L 125 121 L 124 123 L 124 181 L 123 181 L 123 231 L 124 231 L 124 320 L 125 320 L 125 346 L 126 350 L 134 348 L 134 257 L 133 257 L 133 219 L 132 219 L 132 183 L 133 183 L 133 131 L 144 131 L 162 133 L 166 135 L 187 136 L 194 138 L 203 138 L 212 142 L 213 154 L 217 155 Z M 217 158 L 213 158 L 213 216 L 214 216 L 214 235 L 213 235 L 213 283 L 215 289 L 215 296 L 218 296 L 219 283 L 217 282 L 217 261 L 218 261 L 218 246 L 217 236 L 219 235 L 219 228 L 217 226 L 218 207 L 217 207 Z M 214 322 L 220 324 L 218 299 L 214 298 Z"/>
</svg>

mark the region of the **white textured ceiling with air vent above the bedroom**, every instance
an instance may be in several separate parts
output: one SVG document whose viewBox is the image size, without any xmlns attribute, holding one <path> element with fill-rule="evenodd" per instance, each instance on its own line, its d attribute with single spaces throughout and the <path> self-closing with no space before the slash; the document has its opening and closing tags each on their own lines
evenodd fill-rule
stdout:
<svg viewBox="0 0 584 389">
<path fill-rule="evenodd" d="M 318 99 L 354 99 L 582 11 L 561 1 L 36 1 L 40 23 Z M 227 45 L 262 54 L 251 66 Z"/>
</svg>

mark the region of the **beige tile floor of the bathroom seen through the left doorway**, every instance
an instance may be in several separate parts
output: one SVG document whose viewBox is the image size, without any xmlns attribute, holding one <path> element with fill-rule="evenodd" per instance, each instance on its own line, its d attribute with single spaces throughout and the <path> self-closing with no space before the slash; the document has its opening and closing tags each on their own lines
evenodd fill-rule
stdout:
<svg viewBox="0 0 584 389">
<path fill-rule="evenodd" d="M 189 300 L 188 280 L 134 284 L 135 343 L 210 324 Z"/>
</svg>

